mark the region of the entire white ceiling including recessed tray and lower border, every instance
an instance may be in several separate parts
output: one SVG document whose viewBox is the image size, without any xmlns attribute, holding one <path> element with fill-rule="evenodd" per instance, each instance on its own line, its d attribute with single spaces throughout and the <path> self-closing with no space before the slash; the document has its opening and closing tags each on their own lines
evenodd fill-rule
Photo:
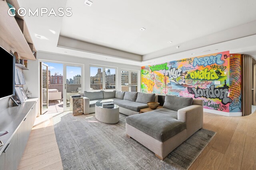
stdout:
<svg viewBox="0 0 256 170">
<path fill-rule="evenodd" d="M 187 58 L 191 53 L 204 55 L 204 49 L 210 49 L 209 53 L 223 49 L 256 56 L 255 0 L 92 1 L 90 7 L 84 4 L 84 0 L 18 0 L 20 6 L 30 9 L 72 8 L 71 17 L 25 16 L 38 51 L 140 66 L 161 63 L 164 59 Z M 140 31 L 141 27 L 146 30 Z M 38 39 L 35 34 L 48 40 Z M 97 49 L 104 46 L 110 47 L 110 51 L 125 51 L 128 57 L 82 47 L 58 47 L 60 35 L 80 40 L 77 43 L 96 44 Z M 243 43 L 245 40 L 247 42 Z M 176 49 L 178 45 L 180 48 Z M 129 59 L 129 56 L 133 58 Z"/>
</svg>

